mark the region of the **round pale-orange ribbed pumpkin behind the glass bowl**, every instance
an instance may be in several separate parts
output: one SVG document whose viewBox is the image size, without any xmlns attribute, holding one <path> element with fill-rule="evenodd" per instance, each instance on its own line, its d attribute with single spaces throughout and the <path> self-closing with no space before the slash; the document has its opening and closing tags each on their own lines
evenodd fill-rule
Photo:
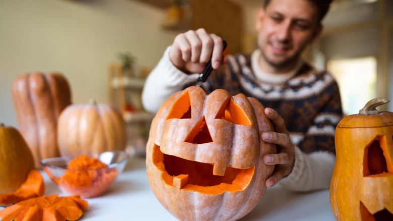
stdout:
<svg viewBox="0 0 393 221">
<path fill-rule="evenodd" d="M 69 105 L 60 114 L 57 140 L 61 156 L 79 156 L 123 150 L 125 122 L 116 107 L 107 103 Z"/>
</svg>

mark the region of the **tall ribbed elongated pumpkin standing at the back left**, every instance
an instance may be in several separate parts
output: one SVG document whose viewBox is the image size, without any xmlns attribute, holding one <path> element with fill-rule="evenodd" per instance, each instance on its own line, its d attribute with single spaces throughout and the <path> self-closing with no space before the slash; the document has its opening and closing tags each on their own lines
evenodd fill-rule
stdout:
<svg viewBox="0 0 393 221">
<path fill-rule="evenodd" d="M 12 84 L 18 129 L 35 159 L 59 156 L 56 140 L 57 118 L 71 104 L 67 80 L 58 72 L 32 72 L 18 76 Z"/>
</svg>

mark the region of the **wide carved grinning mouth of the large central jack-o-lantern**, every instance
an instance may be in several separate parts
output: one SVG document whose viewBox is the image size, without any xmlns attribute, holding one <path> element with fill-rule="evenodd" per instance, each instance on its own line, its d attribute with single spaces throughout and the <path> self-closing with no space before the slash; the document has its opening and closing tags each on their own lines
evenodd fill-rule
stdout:
<svg viewBox="0 0 393 221">
<path fill-rule="evenodd" d="M 204 194 L 241 191 L 251 182 L 255 170 L 255 165 L 248 169 L 227 167 L 224 176 L 216 176 L 213 175 L 214 164 L 164 154 L 156 144 L 152 159 L 165 184 Z"/>
</svg>

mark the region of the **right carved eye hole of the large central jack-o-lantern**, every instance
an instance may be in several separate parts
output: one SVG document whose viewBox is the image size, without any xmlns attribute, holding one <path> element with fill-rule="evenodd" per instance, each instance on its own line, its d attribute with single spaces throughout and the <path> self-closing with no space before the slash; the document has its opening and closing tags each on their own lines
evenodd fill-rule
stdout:
<svg viewBox="0 0 393 221">
<path fill-rule="evenodd" d="M 251 125 L 251 122 L 244 114 L 243 109 L 235 103 L 231 97 L 228 97 L 222 104 L 216 115 L 216 119 L 224 119 L 239 125 Z"/>
</svg>

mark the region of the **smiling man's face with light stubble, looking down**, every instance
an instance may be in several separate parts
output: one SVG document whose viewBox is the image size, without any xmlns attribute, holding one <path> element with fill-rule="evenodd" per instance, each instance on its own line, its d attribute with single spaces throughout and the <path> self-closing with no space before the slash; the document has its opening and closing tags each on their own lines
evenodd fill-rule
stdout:
<svg viewBox="0 0 393 221">
<path fill-rule="evenodd" d="M 261 68 L 288 71 L 302 50 L 320 32 L 318 11 L 307 0 L 272 0 L 258 13 L 256 30 L 262 52 Z"/>
</svg>

